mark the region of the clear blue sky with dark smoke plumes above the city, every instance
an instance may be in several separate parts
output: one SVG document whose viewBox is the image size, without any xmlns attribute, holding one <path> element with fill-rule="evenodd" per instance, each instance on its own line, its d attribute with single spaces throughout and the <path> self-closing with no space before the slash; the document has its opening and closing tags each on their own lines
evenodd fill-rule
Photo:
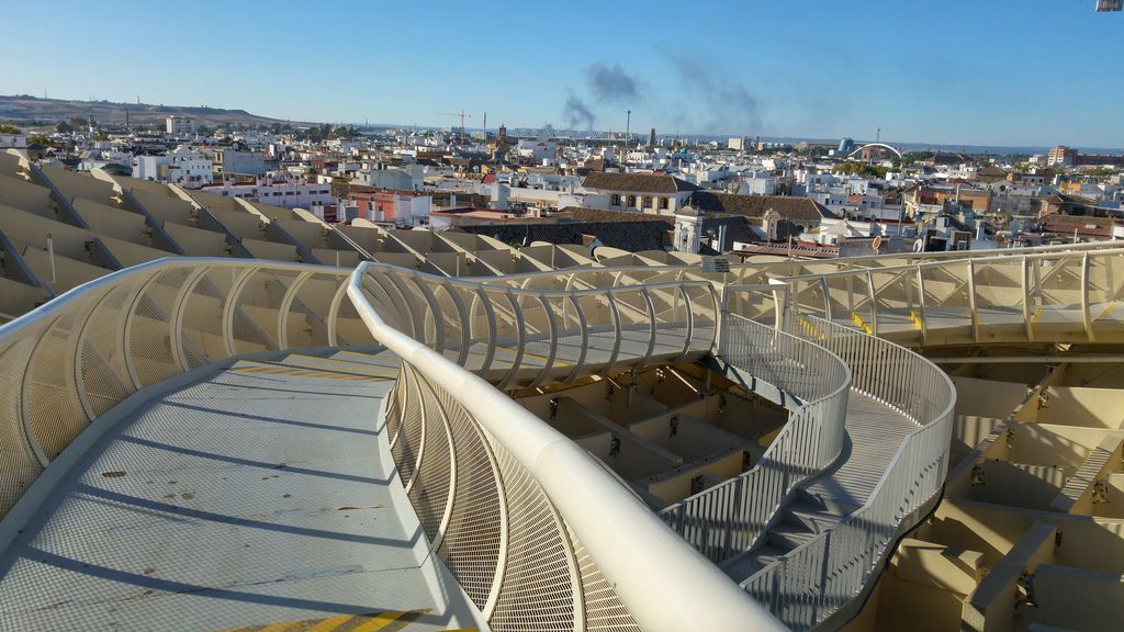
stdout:
<svg viewBox="0 0 1124 632">
<path fill-rule="evenodd" d="M 0 93 L 293 120 L 1124 147 L 1094 0 L 11 2 Z M 18 52 L 17 54 L 12 54 Z M 570 108 L 566 109 L 566 103 Z M 574 112 L 578 116 L 574 116 Z"/>
</svg>

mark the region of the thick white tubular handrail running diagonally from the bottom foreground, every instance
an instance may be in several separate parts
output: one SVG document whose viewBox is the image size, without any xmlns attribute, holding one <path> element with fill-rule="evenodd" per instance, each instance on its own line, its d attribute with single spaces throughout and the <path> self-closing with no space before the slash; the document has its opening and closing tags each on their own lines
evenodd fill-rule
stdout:
<svg viewBox="0 0 1124 632">
<path fill-rule="evenodd" d="M 441 385 L 535 478 L 642 629 L 781 629 L 593 457 L 482 378 L 389 326 L 364 294 L 369 267 L 355 270 L 347 294 L 371 334 Z"/>
</svg>

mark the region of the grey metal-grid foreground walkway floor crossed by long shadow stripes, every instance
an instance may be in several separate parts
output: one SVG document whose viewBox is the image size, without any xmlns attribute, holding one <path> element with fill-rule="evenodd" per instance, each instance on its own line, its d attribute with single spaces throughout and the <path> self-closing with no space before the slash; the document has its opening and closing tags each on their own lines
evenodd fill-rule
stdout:
<svg viewBox="0 0 1124 632">
<path fill-rule="evenodd" d="M 377 426 L 396 374 L 388 354 L 290 355 L 151 401 L 0 556 L 0 630 L 483 629 Z"/>
</svg>

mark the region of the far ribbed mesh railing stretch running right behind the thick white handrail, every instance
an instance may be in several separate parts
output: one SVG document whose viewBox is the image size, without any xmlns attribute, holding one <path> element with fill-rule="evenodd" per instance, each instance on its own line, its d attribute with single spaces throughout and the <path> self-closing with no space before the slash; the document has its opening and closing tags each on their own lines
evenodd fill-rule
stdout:
<svg viewBox="0 0 1124 632">
<path fill-rule="evenodd" d="M 357 280 L 389 326 L 501 389 L 700 358 L 717 334 L 708 281 L 527 289 L 378 263 L 364 270 Z"/>
</svg>

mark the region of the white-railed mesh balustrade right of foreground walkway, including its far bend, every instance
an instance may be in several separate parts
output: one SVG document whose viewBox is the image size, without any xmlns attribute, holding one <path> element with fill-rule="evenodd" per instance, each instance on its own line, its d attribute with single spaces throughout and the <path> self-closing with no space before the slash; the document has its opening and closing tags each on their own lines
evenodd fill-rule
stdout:
<svg viewBox="0 0 1124 632">
<path fill-rule="evenodd" d="M 352 301 L 401 359 L 391 453 L 433 550 L 493 630 L 774 629 L 593 457 L 482 379 L 704 354 L 718 320 L 709 283 L 538 287 L 372 263 L 353 274 Z"/>
</svg>

